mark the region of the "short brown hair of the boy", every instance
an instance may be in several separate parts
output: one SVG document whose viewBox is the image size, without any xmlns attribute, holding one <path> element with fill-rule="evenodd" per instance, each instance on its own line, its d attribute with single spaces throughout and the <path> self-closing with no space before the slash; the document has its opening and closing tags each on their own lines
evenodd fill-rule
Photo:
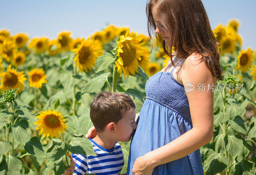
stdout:
<svg viewBox="0 0 256 175">
<path fill-rule="evenodd" d="M 132 98 L 120 92 L 100 92 L 90 105 L 90 118 L 97 132 L 102 132 L 106 124 L 117 123 L 131 108 L 135 109 Z"/>
</svg>

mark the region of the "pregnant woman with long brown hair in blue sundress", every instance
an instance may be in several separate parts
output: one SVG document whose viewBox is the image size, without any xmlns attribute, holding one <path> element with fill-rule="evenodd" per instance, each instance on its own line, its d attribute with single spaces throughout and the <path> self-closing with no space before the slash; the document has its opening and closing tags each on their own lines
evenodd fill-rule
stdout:
<svg viewBox="0 0 256 175">
<path fill-rule="evenodd" d="M 223 79 L 219 44 L 200 0 L 150 0 L 146 12 L 150 38 L 155 31 L 170 59 L 146 83 L 127 174 L 204 174 L 199 148 L 212 139 L 213 90 Z"/>
</svg>

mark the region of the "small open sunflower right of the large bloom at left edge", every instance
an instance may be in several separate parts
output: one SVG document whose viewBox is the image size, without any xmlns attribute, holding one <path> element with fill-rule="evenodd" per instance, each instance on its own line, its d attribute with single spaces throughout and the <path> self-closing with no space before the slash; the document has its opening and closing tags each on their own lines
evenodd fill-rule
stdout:
<svg viewBox="0 0 256 175">
<path fill-rule="evenodd" d="M 36 87 L 41 89 L 42 84 L 47 83 L 47 81 L 45 80 L 46 75 L 44 74 L 43 68 L 34 68 L 30 72 L 28 72 L 28 75 L 30 76 L 28 79 L 30 87 Z"/>
</svg>

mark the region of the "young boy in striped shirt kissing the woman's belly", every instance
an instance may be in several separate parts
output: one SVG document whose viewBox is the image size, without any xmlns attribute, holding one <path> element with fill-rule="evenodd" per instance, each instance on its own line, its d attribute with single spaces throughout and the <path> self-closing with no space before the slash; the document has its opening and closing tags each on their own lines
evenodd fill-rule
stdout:
<svg viewBox="0 0 256 175">
<path fill-rule="evenodd" d="M 89 140 L 97 156 L 72 154 L 76 165 L 74 174 L 119 175 L 124 166 L 124 154 L 117 141 L 128 142 L 135 132 L 135 104 L 127 94 L 100 92 L 95 95 L 90 109 L 97 135 Z M 74 166 L 71 160 L 72 164 Z M 70 173 L 68 170 L 65 173 Z"/>
</svg>

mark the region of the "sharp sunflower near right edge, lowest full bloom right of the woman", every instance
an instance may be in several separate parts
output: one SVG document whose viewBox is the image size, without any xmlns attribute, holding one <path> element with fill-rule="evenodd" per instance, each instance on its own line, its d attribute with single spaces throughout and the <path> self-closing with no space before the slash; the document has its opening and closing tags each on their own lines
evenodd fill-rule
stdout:
<svg viewBox="0 0 256 175">
<path fill-rule="evenodd" d="M 237 59 L 236 69 L 240 69 L 242 73 L 246 72 L 252 66 L 252 61 L 254 60 L 253 50 L 250 47 L 246 51 L 243 49 L 237 56 Z"/>
</svg>

